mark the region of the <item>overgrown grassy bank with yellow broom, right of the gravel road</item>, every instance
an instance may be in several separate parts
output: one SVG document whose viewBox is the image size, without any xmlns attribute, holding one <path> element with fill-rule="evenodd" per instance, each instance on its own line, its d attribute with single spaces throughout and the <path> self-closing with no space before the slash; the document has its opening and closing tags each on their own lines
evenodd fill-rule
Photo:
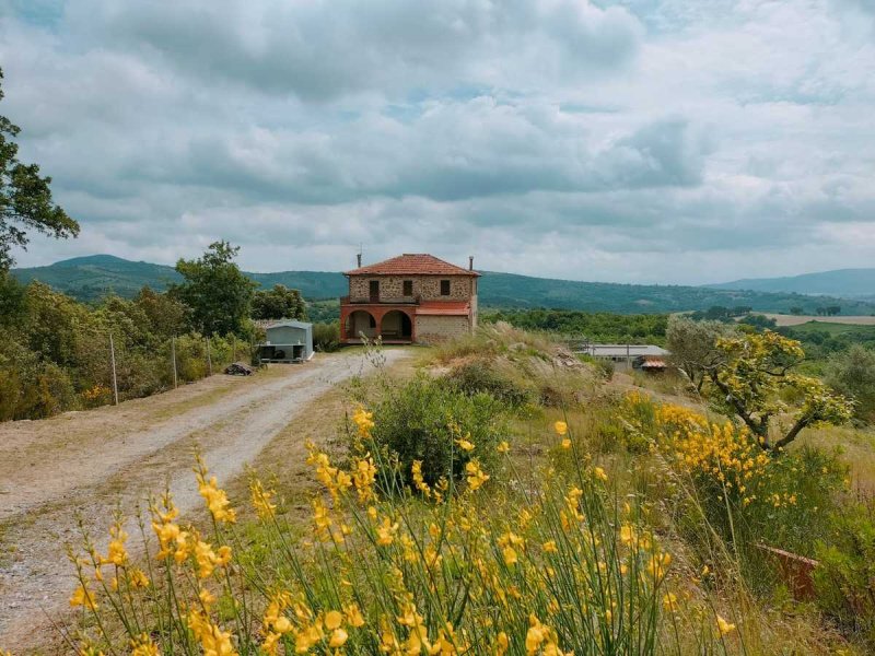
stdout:
<svg viewBox="0 0 875 656">
<path fill-rule="evenodd" d="M 797 356 L 780 336 L 712 347 L 723 368 L 673 396 L 506 324 L 357 379 L 337 440 L 310 446 L 306 503 L 269 471 L 236 499 L 198 461 L 203 520 L 164 495 L 136 540 L 120 517 L 108 548 L 85 537 L 70 647 L 870 653 L 875 526 L 835 441 L 854 429 L 829 427 L 850 405 L 795 378 L 760 396 L 763 363 Z M 819 564 L 789 576 L 802 557 Z"/>
</svg>

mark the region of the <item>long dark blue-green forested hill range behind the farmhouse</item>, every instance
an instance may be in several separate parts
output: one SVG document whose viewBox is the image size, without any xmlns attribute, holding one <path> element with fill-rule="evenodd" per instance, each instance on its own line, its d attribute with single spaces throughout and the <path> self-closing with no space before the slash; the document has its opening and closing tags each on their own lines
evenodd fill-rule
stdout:
<svg viewBox="0 0 875 656">
<path fill-rule="evenodd" d="M 179 280 L 179 274 L 163 265 L 133 262 L 110 255 L 95 255 L 56 262 L 48 267 L 15 269 L 23 281 L 39 280 L 71 296 L 96 300 L 107 293 L 130 297 L 143 285 L 163 290 Z M 306 298 L 330 298 L 346 292 L 346 279 L 339 272 L 281 271 L 248 273 L 269 288 L 284 284 L 298 289 Z M 616 313 L 665 313 L 725 307 L 749 307 L 755 312 L 816 314 L 818 307 L 836 305 L 841 314 L 875 313 L 875 303 L 830 296 L 804 296 L 795 293 L 768 293 L 678 285 L 617 284 L 533 278 L 514 273 L 483 272 L 480 279 L 480 305 L 483 307 L 548 307 Z"/>
</svg>

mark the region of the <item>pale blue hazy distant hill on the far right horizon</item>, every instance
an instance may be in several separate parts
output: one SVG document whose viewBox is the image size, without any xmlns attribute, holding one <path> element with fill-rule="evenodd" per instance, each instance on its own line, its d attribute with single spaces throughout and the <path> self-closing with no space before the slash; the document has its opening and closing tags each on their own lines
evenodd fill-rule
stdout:
<svg viewBox="0 0 875 656">
<path fill-rule="evenodd" d="M 875 269 L 838 269 L 786 278 L 749 278 L 708 286 L 715 290 L 795 292 L 843 298 L 875 298 Z"/>
</svg>

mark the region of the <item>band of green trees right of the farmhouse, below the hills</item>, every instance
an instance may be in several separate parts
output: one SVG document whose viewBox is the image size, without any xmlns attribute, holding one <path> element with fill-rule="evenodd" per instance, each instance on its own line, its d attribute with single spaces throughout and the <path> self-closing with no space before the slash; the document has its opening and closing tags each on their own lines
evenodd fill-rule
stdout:
<svg viewBox="0 0 875 656">
<path fill-rule="evenodd" d="M 592 313 L 568 309 L 487 312 L 483 321 L 508 321 L 524 330 L 547 330 L 602 342 L 665 342 L 667 315 Z"/>
</svg>

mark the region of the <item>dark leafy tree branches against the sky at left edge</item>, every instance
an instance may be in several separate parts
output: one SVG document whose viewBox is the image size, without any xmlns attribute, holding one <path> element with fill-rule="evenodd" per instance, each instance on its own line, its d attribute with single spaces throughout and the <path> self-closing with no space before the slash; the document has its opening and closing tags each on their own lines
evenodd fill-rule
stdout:
<svg viewBox="0 0 875 656">
<path fill-rule="evenodd" d="M 0 69 L 0 83 L 2 80 Z M 51 200 L 51 178 L 40 177 L 36 164 L 19 162 L 19 145 L 12 139 L 20 131 L 0 116 L 0 272 L 14 263 L 10 255 L 13 246 L 27 246 L 28 230 L 58 238 L 79 234 L 79 224 Z"/>
</svg>

